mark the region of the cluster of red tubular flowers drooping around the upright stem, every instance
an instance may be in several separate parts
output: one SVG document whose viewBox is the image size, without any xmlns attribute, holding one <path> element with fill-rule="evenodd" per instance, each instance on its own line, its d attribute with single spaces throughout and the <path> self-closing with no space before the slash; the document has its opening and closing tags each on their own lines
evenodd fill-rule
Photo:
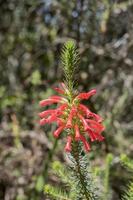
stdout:
<svg viewBox="0 0 133 200">
<path fill-rule="evenodd" d="M 73 99 L 69 98 L 69 91 L 64 83 L 61 84 L 61 88 L 54 88 L 61 96 L 51 96 L 48 99 L 40 101 L 40 106 L 47 106 L 53 103 L 59 104 L 56 109 L 45 110 L 39 114 L 42 118 L 40 125 L 46 123 L 56 122 L 58 125 L 57 130 L 54 131 L 54 136 L 59 137 L 63 130 L 69 130 L 67 136 L 67 143 L 65 150 L 71 151 L 71 143 L 73 140 L 82 141 L 86 151 L 90 150 L 90 145 L 86 140 L 86 135 L 89 136 L 90 141 L 95 140 L 102 141 L 104 137 L 101 132 L 104 130 L 104 126 L 101 124 L 102 118 L 91 112 L 89 108 L 83 105 L 81 100 L 88 99 L 96 93 L 93 89 L 87 93 L 80 93 L 75 95 Z M 70 133 L 69 133 L 70 132 Z"/>
</svg>

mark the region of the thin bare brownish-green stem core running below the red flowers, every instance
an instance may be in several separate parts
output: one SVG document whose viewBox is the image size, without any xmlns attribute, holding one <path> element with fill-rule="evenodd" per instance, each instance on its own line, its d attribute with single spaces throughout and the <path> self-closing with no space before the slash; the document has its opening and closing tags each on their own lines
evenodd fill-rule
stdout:
<svg viewBox="0 0 133 200">
<path fill-rule="evenodd" d="M 78 175 L 78 178 L 80 180 L 80 185 L 81 185 L 81 192 L 84 195 L 84 197 L 86 198 L 86 200 L 91 200 L 91 194 L 89 193 L 87 187 L 86 187 L 86 183 L 85 183 L 85 173 L 83 172 L 83 168 L 81 169 L 81 163 L 80 163 L 80 149 L 79 149 L 79 144 L 77 142 L 73 142 L 73 146 L 72 146 L 72 156 L 75 159 L 76 162 L 76 168 L 75 168 L 75 172 Z"/>
</svg>

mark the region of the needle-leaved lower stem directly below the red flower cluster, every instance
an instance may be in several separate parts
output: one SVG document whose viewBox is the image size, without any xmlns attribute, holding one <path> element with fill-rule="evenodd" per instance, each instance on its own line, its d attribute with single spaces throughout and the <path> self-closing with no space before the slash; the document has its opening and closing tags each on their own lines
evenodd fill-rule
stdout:
<svg viewBox="0 0 133 200">
<path fill-rule="evenodd" d="M 81 144 L 73 142 L 72 153 L 69 155 L 69 159 L 72 163 L 70 164 L 70 171 L 75 183 L 76 199 L 99 199 L 99 188 L 92 176 L 87 157 L 82 154 Z"/>
</svg>

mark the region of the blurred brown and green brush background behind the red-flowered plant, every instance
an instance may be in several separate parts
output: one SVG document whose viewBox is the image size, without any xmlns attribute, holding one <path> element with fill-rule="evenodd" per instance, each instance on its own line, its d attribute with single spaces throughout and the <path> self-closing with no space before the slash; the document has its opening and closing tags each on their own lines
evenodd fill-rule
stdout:
<svg viewBox="0 0 133 200">
<path fill-rule="evenodd" d="M 41 200 L 45 182 L 58 184 L 53 160 L 64 162 L 65 140 L 40 127 L 38 102 L 63 80 L 61 47 L 75 40 L 79 91 L 97 89 L 86 105 L 103 116 L 106 140 L 88 155 L 110 172 L 112 199 L 130 174 L 119 156 L 133 156 L 133 1 L 0 0 L 0 200 Z M 51 153 L 52 152 L 52 153 Z"/>
</svg>

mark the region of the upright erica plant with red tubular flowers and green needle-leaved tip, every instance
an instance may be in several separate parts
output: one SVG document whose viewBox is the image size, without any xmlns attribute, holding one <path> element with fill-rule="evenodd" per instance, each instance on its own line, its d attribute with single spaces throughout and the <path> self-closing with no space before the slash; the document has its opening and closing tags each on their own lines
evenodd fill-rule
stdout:
<svg viewBox="0 0 133 200">
<path fill-rule="evenodd" d="M 82 103 L 82 100 L 88 100 L 95 95 L 96 89 L 83 93 L 77 92 L 74 75 L 79 55 L 73 41 L 64 45 L 61 58 L 65 80 L 59 84 L 59 87 L 54 88 L 58 95 L 40 101 L 41 107 L 57 104 L 57 108 L 45 109 L 41 112 L 40 125 L 56 122 L 57 129 L 53 132 L 53 136 L 59 138 L 62 135 L 67 138 L 65 151 L 73 163 L 70 167 L 77 182 L 76 199 L 98 199 L 92 189 L 85 155 L 82 154 L 82 151 L 87 153 L 91 150 L 91 142 L 104 139 L 102 118 Z"/>
</svg>

